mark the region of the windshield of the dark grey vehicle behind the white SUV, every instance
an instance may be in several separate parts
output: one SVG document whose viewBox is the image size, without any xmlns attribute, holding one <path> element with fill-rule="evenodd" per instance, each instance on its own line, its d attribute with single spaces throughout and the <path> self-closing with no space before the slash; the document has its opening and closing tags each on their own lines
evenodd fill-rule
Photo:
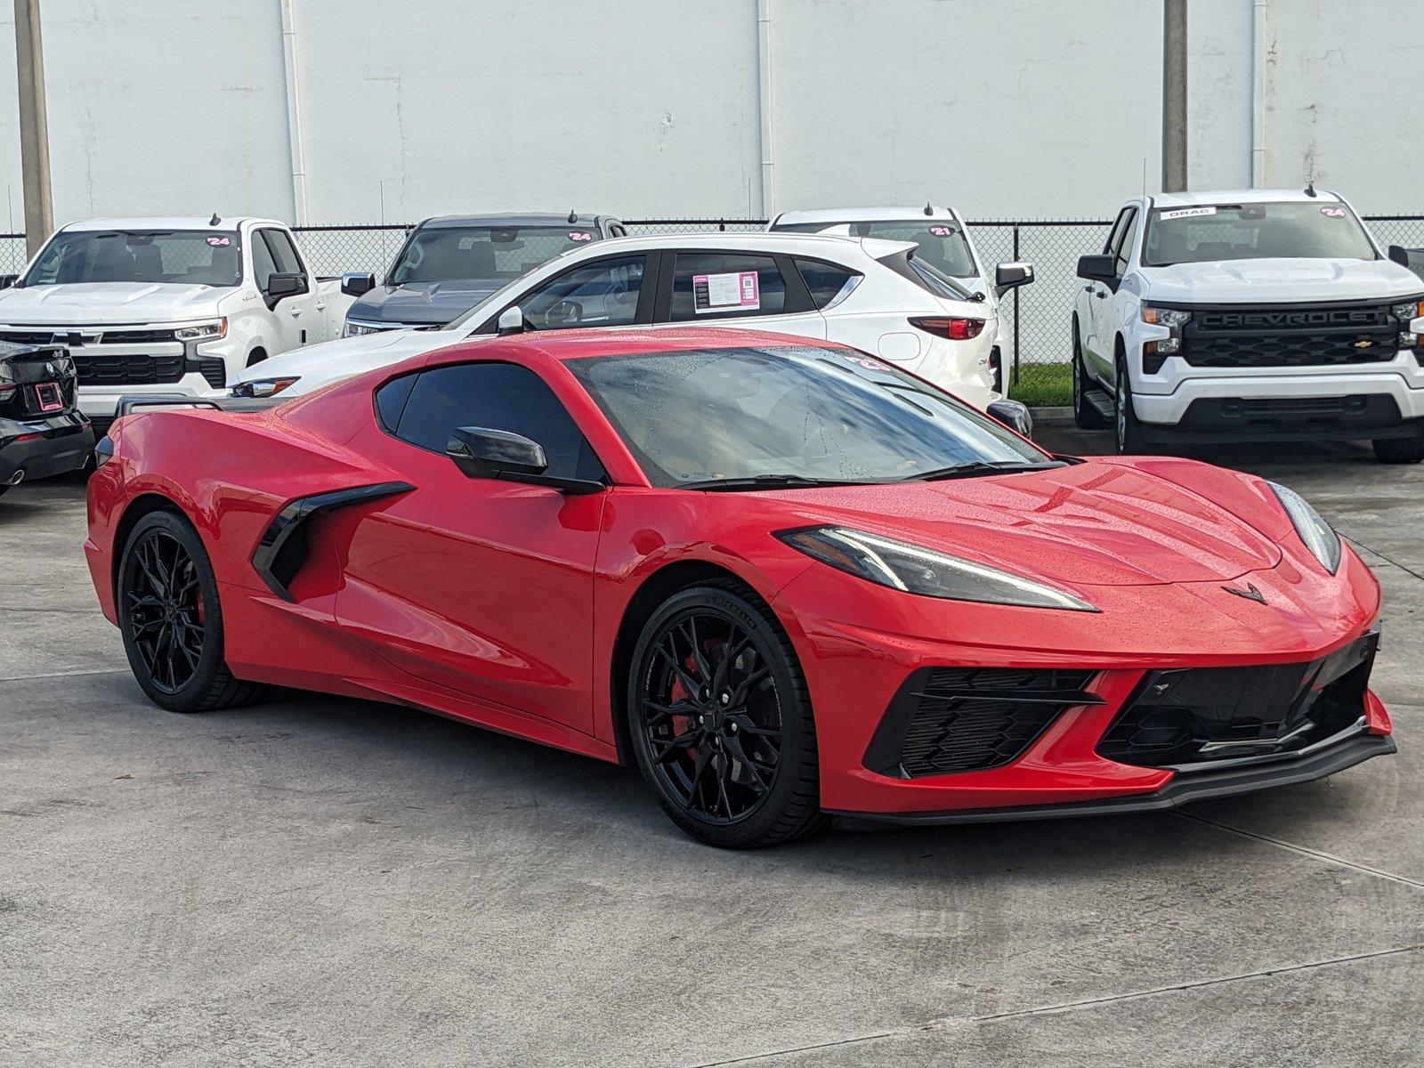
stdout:
<svg viewBox="0 0 1424 1068">
<path fill-rule="evenodd" d="M 595 241 L 582 226 L 430 226 L 419 229 L 390 269 L 390 285 L 515 279 L 560 252 Z"/>
</svg>

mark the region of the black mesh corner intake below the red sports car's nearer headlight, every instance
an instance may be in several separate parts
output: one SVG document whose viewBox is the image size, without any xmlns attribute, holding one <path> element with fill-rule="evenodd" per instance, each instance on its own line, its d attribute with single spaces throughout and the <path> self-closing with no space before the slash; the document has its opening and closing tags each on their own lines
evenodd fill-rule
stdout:
<svg viewBox="0 0 1424 1068">
<path fill-rule="evenodd" d="M 880 775 L 980 772 L 1012 763 L 1067 709 L 1101 705 L 1095 672 L 1065 668 L 924 668 L 886 709 L 864 765 Z"/>
</svg>

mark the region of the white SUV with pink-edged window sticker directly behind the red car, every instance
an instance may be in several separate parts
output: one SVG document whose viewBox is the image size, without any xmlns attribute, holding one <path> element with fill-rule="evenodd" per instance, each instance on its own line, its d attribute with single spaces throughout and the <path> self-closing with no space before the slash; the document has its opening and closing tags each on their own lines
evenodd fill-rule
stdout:
<svg viewBox="0 0 1424 1068">
<path fill-rule="evenodd" d="M 698 323 L 842 342 L 1027 426 L 1001 402 L 981 337 L 993 310 L 903 241 L 805 234 L 612 238 L 534 268 L 439 330 L 384 330 L 252 367 L 236 396 L 309 393 L 336 379 L 508 330 Z"/>
</svg>

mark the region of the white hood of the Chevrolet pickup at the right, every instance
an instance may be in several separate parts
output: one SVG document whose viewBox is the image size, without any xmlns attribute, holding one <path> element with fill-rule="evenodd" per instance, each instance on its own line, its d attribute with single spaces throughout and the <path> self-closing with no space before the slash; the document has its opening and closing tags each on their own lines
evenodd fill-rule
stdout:
<svg viewBox="0 0 1424 1068">
<path fill-rule="evenodd" d="M 1143 299 L 1180 303 L 1390 300 L 1424 292 L 1418 275 L 1390 259 L 1225 259 L 1139 273 Z"/>
</svg>

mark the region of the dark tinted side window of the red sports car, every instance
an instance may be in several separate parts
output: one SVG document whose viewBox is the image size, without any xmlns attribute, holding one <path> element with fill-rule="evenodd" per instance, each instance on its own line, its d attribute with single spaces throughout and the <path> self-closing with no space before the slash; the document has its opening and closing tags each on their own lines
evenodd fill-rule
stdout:
<svg viewBox="0 0 1424 1068">
<path fill-rule="evenodd" d="M 382 422 L 400 409 L 396 437 L 444 453 L 450 431 L 461 426 L 508 430 L 544 447 L 548 474 L 562 478 L 604 477 L 602 464 L 554 390 L 528 367 L 515 363 L 453 363 L 419 375 L 402 404 L 404 379 L 376 392 Z"/>
</svg>

